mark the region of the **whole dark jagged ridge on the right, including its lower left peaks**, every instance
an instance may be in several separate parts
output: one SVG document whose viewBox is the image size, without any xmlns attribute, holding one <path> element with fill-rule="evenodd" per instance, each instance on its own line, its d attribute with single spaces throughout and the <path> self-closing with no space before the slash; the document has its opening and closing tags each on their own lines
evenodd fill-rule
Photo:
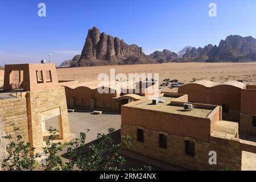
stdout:
<svg viewBox="0 0 256 182">
<path fill-rule="evenodd" d="M 219 46 L 187 49 L 182 61 L 247 62 L 256 61 L 256 39 L 251 36 L 230 35 Z"/>
</svg>

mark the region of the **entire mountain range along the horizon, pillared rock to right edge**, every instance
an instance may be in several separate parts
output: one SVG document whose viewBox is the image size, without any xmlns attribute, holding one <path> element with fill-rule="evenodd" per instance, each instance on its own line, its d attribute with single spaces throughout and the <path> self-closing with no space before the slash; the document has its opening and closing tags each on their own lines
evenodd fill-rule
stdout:
<svg viewBox="0 0 256 182">
<path fill-rule="evenodd" d="M 204 48 L 187 46 L 178 53 L 168 49 L 146 55 L 141 47 L 128 45 L 119 38 L 100 33 L 93 27 L 88 31 L 81 55 L 64 61 L 60 67 L 98 65 L 155 64 L 168 62 L 247 62 L 256 61 L 256 39 L 251 36 L 230 35 L 219 46 Z"/>
</svg>

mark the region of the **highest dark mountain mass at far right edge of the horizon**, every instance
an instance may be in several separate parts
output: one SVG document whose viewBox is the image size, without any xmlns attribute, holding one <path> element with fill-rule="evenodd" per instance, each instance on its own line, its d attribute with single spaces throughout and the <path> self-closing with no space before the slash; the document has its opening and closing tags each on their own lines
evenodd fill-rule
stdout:
<svg viewBox="0 0 256 182">
<path fill-rule="evenodd" d="M 256 39 L 251 36 L 230 35 L 214 47 L 207 62 L 256 61 Z"/>
</svg>

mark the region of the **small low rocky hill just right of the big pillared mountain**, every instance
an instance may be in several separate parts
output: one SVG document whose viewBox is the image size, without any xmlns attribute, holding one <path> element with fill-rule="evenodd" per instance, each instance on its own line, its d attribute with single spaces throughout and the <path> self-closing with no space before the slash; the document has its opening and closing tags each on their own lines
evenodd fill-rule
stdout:
<svg viewBox="0 0 256 182">
<path fill-rule="evenodd" d="M 171 52 L 168 49 L 163 49 L 163 51 L 155 51 L 149 55 L 151 59 L 156 59 L 158 63 L 167 63 L 178 58 L 177 53 Z"/>
</svg>

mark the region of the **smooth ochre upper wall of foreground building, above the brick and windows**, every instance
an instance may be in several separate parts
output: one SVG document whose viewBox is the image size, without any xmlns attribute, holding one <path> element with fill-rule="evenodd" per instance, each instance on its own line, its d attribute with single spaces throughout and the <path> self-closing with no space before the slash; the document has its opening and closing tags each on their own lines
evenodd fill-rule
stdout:
<svg viewBox="0 0 256 182">
<path fill-rule="evenodd" d="M 129 107 L 127 105 L 122 106 L 121 113 L 122 125 L 143 126 L 151 130 L 161 130 L 174 135 L 209 141 L 210 118 L 164 113 Z"/>
</svg>

